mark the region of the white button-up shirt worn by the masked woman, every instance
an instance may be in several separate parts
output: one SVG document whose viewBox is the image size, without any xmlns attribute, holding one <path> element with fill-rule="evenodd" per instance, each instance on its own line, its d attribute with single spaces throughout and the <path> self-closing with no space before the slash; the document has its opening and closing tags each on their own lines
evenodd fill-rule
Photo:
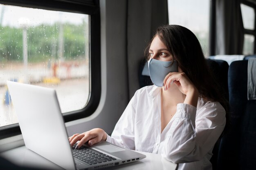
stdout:
<svg viewBox="0 0 256 170">
<path fill-rule="evenodd" d="M 179 163 L 179 170 L 211 170 L 209 160 L 225 127 L 225 109 L 200 97 L 197 107 L 179 103 L 161 133 L 161 89 L 152 85 L 137 90 L 107 141 L 162 154 L 168 161 Z"/>
</svg>

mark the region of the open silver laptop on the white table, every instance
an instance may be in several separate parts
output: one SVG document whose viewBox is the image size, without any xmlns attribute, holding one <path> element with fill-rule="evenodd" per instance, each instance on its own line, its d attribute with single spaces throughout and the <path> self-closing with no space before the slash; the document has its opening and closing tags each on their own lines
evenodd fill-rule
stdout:
<svg viewBox="0 0 256 170">
<path fill-rule="evenodd" d="M 71 147 L 55 89 L 7 81 L 25 146 L 66 170 L 101 169 L 134 162 L 144 154 L 101 141 Z"/>
</svg>

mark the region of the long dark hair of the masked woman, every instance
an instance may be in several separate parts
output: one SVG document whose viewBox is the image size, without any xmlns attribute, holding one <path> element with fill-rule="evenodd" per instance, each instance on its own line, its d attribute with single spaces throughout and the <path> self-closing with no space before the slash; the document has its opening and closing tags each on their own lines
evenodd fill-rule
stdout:
<svg viewBox="0 0 256 170">
<path fill-rule="evenodd" d="M 206 63 L 202 47 L 195 34 L 180 25 L 163 25 L 157 28 L 155 36 L 158 36 L 166 45 L 173 56 L 173 60 L 177 60 L 177 65 L 198 89 L 200 97 L 207 101 L 220 102 L 225 108 L 226 131 L 229 126 L 229 103 L 224 96 L 223 88 L 220 87 Z M 152 40 L 145 49 L 147 59 L 150 58 L 148 50 Z"/>
</svg>

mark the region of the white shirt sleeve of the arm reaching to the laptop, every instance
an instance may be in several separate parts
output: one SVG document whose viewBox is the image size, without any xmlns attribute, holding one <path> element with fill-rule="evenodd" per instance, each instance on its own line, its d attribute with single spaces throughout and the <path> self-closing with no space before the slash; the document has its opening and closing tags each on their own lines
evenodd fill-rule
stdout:
<svg viewBox="0 0 256 170">
<path fill-rule="evenodd" d="M 121 115 L 119 121 L 115 125 L 111 137 L 107 136 L 106 141 L 119 145 L 124 148 L 135 150 L 134 142 L 134 122 L 135 122 L 135 107 L 136 107 L 136 96 L 131 98 L 126 109 Z"/>
</svg>

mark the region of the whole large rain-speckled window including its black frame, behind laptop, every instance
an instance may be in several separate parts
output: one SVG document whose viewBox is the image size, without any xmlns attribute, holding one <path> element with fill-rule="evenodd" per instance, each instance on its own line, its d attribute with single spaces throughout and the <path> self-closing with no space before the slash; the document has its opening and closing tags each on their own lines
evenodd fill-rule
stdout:
<svg viewBox="0 0 256 170">
<path fill-rule="evenodd" d="M 56 89 L 65 122 L 93 114 L 100 44 L 99 0 L 0 0 L 0 139 L 21 133 L 7 80 Z"/>
</svg>

